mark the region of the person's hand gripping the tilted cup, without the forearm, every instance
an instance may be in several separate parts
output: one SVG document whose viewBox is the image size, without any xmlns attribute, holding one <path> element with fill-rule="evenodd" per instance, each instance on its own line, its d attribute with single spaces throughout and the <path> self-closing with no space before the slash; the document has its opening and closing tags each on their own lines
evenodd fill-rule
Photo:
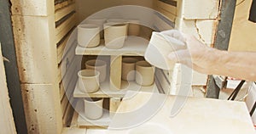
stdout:
<svg viewBox="0 0 256 134">
<path fill-rule="evenodd" d="M 210 74 L 211 65 L 215 64 L 215 49 L 207 47 L 195 38 L 177 30 L 162 31 L 161 34 L 175 38 L 186 45 L 185 49 L 176 49 L 169 53 L 168 58 L 177 63 L 185 64 L 190 68 L 205 74 Z"/>
</svg>

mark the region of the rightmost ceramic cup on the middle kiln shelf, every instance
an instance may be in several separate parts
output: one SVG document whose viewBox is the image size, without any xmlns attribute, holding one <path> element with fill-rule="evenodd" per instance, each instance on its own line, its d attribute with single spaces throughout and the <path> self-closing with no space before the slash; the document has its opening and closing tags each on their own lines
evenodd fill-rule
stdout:
<svg viewBox="0 0 256 134">
<path fill-rule="evenodd" d="M 154 83 L 154 67 L 147 61 L 138 61 L 136 63 L 136 70 L 137 84 L 147 87 Z"/>
</svg>

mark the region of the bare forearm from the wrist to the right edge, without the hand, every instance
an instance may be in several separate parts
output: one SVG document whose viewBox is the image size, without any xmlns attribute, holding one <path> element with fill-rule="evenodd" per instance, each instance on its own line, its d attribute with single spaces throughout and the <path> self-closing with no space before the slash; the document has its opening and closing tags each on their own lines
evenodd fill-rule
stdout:
<svg viewBox="0 0 256 134">
<path fill-rule="evenodd" d="M 256 53 L 227 52 L 214 49 L 210 74 L 256 81 Z"/>
</svg>

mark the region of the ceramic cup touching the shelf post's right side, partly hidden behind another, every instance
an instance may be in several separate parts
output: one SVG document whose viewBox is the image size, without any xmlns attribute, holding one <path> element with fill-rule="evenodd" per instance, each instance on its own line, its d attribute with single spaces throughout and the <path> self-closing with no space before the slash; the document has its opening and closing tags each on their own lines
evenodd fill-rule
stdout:
<svg viewBox="0 0 256 134">
<path fill-rule="evenodd" d="M 135 58 L 122 59 L 122 80 L 135 81 L 135 64 L 137 61 Z"/>
</svg>

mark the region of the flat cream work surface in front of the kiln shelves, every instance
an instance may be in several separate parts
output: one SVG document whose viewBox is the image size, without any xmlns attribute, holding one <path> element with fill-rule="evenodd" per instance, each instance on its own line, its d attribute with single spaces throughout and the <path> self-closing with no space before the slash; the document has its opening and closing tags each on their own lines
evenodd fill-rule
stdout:
<svg viewBox="0 0 256 134">
<path fill-rule="evenodd" d="M 148 92 L 128 92 L 118 114 L 113 117 L 108 133 L 255 134 L 245 103 L 188 98 L 183 109 L 171 118 L 176 98 Z M 152 109 L 148 109 L 150 104 Z M 154 113 L 150 113 L 153 110 Z M 115 130 L 120 127 L 126 129 Z"/>
</svg>

